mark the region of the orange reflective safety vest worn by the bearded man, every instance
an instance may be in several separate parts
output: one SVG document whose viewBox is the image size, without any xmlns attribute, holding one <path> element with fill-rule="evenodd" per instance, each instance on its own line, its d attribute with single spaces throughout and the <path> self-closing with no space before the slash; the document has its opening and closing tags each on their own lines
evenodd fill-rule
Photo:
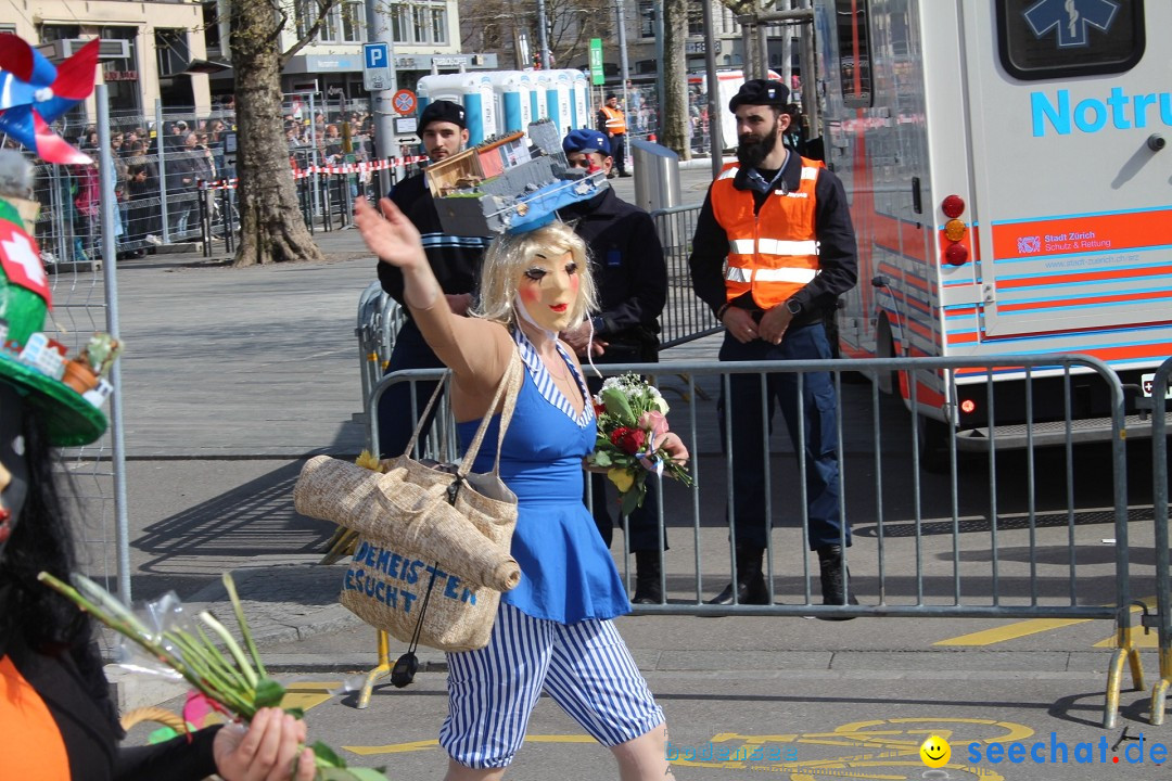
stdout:
<svg viewBox="0 0 1172 781">
<path fill-rule="evenodd" d="M 758 307 L 772 309 L 817 276 L 813 191 L 823 167 L 803 157 L 797 191 L 783 194 L 775 189 L 756 214 L 752 191 L 732 186 L 740 163 L 725 165 L 713 183 L 713 214 L 729 239 L 724 273 L 729 301 L 751 290 Z"/>
</svg>

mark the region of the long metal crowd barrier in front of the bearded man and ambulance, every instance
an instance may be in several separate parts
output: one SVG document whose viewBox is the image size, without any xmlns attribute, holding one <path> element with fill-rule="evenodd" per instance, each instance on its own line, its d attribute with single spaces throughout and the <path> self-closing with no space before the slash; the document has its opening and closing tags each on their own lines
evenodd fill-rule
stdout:
<svg viewBox="0 0 1172 781">
<path fill-rule="evenodd" d="M 634 605 L 636 615 L 1103 619 L 1111 623 L 1117 643 L 1105 685 L 1103 726 L 1112 727 L 1116 722 L 1125 663 L 1130 664 L 1136 686 L 1143 687 L 1130 609 L 1124 389 L 1104 363 L 1084 356 L 1049 355 L 790 364 L 681 362 L 670 364 L 669 369 L 663 364 L 599 369 L 607 375 L 628 371 L 648 375 L 653 382 L 661 383 L 661 389 L 683 382 L 686 392 L 680 396 L 690 399 L 686 402 L 687 409 L 681 409 L 684 402 L 673 402 L 676 409 L 668 417 L 673 430 L 694 454 L 690 471 L 696 487 L 689 491 L 672 481 L 652 487 L 660 492 L 656 522 L 659 534 L 667 530 L 670 537 L 670 552 L 661 554 L 665 598 L 659 604 Z M 1024 374 L 1024 398 L 1011 402 L 994 398 L 994 375 L 1000 376 L 1007 369 Z M 1058 447 L 1030 447 L 1013 454 L 990 447 L 987 453 L 974 457 L 959 451 L 956 437 L 950 434 L 943 455 L 929 454 L 924 450 L 921 418 L 911 416 L 898 400 L 881 395 L 874 383 L 852 383 L 850 378 L 844 382 L 844 375 L 850 372 L 897 370 L 920 372 L 920 376 L 939 375 L 953 389 L 958 382 L 986 382 L 990 389 L 986 399 L 990 419 L 999 419 L 996 402 L 1001 400 L 1007 405 L 1007 416 L 1009 404 L 1024 409 L 1027 424 L 1041 423 L 1033 420 L 1035 391 L 1031 384 L 1035 379 L 1047 377 L 1054 382 L 1055 377 L 1061 378 L 1064 391 L 1058 392 L 1064 392 L 1068 400 L 1076 384 L 1082 388 L 1088 382 L 1101 383 L 1111 400 L 1115 430 L 1108 445 L 1111 459 L 1106 472 L 1115 535 L 1110 563 L 1090 556 L 1079 561 L 1079 541 L 1089 536 L 1081 527 L 1102 522 L 1102 514 L 1083 513 L 1076 503 L 1078 480 L 1086 480 L 1084 474 L 1076 474 L 1076 439 L 1069 403 L 1065 405 L 1068 419 L 1058 424 L 1067 431 Z M 729 398 L 734 376 L 750 378 L 764 391 L 769 382 L 783 382 L 792 375 L 815 371 L 830 372 L 837 391 L 839 513 L 852 526 L 849 563 L 852 589 L 863 604 L 824 605 L 812 598 L 817 580 L 811 569 L 818 570 L 817 559 L 805 544 L 810 534 L 804 480 L 810 468 L 804 453 L 805 434 L 797 434 L 799 444 L 795 457 L 789 438 L 778 433 L 770 439 L 768 427 L 761 433 L 762 447 L 770 448 L 770 468 L 765 472 L 765 515 L 772 529 L 764 559 L 768 604 L 707 604 L 706 600 L 736 578 L 736 523 L 730 486 L 738 465 L 734 465 L 729 455 L 730 405 L 704 402 L 697 389 L 707 386 L 714 399 Z M 1170 371 L 1166 364 L 1161 377 L 1166 379 Z M 391 384 L 434 381 L 440 374 L 435 370 L 395 372 L 379 383 L 367 400 L 368 437 L 373 448 L 379 447 L 381 395 Z M 911 383 L 913 407 L 920 385 Z M 803 383 L 797 386 L 797 404 L 802 407 L 806 402 L 800 390 Z M 766 398 L 764 393 L 763 398 Z M 763 402 L 763 413 L 765 404 Z M 415 419 L 418 410 L 413 409 L 409 413 Z M 444 429 L 450 427 L 450 415 L 444 411 L 441 416 L 444 417 L 437 422 L 445 420 Z M 450 443 L 447 446 L 450 447 Z M 449 458 L 451 453 L 449 448 Z M 928 458 L 943 458 L 948 465 L 947 477 L 922 472 L 921 466 Z M 1010 465 L 1002 465 L 1002 461 Z M 1102 475 L 1098 465 L 1095 468 L 1096 475 Z M 999 478 L 1009 487 L 999 486 Z M 706 523 L 722 515 L 732 519 L 731 532 L 722 522 Z M 666 519 L 672 523 L 667 525 Z M 625 532 L 628 522 L 629 519 L 624 519 Z M 1093 536 L 1101 534 L 1095 532 Z M 626 540 L 626 534 L 624 537 Z M 1157 543 L 1157 549 L 1167 553 L 1166 539 Z M 631 552 L 624 553 L 629 588 Z M 1097 569 L 1090 576 L 1092 567 Z M 1160 594 L 1166 602 L 1166 555 L 1164 577 Z M 1161 616 L 1166 618 L 1167 615 L 1164 604 Z M 1161 625 L 1163 649 L 1167 648 L 1168 625 L 1167 621 Z M 383 645 L 380 653 L 386 651 Z M 1167 658 L 1161 650 L 1161 663 Z M 368 683 L 373 685 L 376 677 L 372 673 Z M 1165 678 L 1159 687 L 1160 697 L 1166 685 Z"/>
</svg>

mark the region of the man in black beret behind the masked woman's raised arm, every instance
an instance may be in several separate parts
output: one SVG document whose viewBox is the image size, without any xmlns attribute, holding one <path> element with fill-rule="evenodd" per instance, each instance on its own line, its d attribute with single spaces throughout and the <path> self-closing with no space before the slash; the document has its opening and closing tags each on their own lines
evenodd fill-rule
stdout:
<svg viewBox="0 0 1172 781">
<path fill-rule="evenodd" d="M 457 155 L 468 144 L 464 107 L 451 101 L 434 101 L 420 115 L 420 138 L 431 163 Z M 457 237 L 444 232 L 440 224 L 427 173 L 420 172 L 396 184 L 388 197 L 411 220 L 423 239 L 423 249 L 436 279 L 443 288 L 448 306 L 457 314 L 466 314 L 472 303 L 481 261 L 489 246 L 489 238 Z M 390 263 L 379 263 L 382 289 L 409 313 L 403 301 L 403 273 Z M 410 314 L 395 336 L 387 374 L 404 369 L 442 369 L 443 363 L 428 347 Z M 415 430 L 411 416 L 411 383 L 396 383 L 387 389 L 379 402 L 379 445 L 383 457 L 402 455 Z M 435 390 L 435 383 L 415 383 L 415 411 L 422 412 Z M 427 436 L 427 429 L 423 436 Z"/>
</svg>

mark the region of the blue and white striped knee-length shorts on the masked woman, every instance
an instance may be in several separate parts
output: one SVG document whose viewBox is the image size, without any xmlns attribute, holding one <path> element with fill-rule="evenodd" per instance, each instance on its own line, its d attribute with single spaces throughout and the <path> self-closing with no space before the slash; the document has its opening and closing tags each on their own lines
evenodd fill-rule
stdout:
<svg viewBox="0 0 1172 781">
<path fill-rule="evenodd" d="M 559 624 L 502 602 L 485 648 L 448 655 L 440 745 L 465 767 L 507 767 L 543 690 L 604 746 L 663 722 L 611 621 Z"/>
</svg>

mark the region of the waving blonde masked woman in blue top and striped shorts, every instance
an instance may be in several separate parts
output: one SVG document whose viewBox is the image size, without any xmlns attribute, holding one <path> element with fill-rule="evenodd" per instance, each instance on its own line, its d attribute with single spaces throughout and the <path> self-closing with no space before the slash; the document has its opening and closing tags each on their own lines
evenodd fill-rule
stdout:
<svg viewBox="0 0 1172 781">
<path fill-rule="evenodd" d="M 622 781 L 673 779 L 663 712 L 611 621 L 629 610 L 622 581 L 581 500 L 594 411 L 581 368 L 557 335 L 584 322 L 594 303 L 586 246 L 560 222 L 497 239 L 484 260 L 478 316 L 461 317 L 415 226 L 388 199 L 380 206 L 382 217 L 360 199 L 355 222 L 372 252 L 403 270 L 411 315 L 452 370 L 462 438 L 495 412 L 489 404 L 516 351 L 526 366 L 500 452 L 500 477 L 518 500 L 512 554 L 522 581 L 502 596 L 489 645 L 448 655 L 440 732 L 448 781 L 503 777 L 543 691 L 611 748 Z M 490 427 L 486 440 L 495 437 Z M 659 444 L 673 458 L 688 455 L 675 434 Z M 489 471 L 493 457 L 482 453 L 475 470 Z"/>
</svg>

